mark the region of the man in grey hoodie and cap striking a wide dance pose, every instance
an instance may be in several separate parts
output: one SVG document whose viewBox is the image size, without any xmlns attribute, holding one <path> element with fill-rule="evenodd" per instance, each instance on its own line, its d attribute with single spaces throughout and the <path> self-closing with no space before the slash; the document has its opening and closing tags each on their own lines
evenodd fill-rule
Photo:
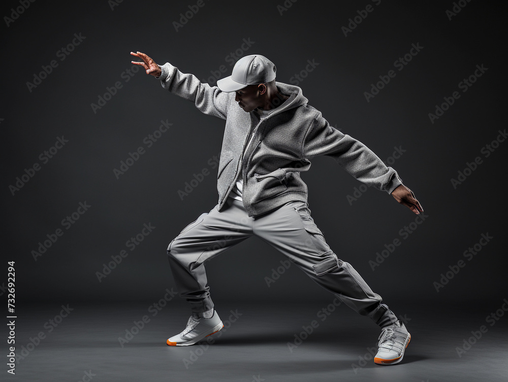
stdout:
<svg viewBox="0 0 508 382">
<path fill-rule="evenodd" d="M 386 191 L 415 214 L 423 212 L 397 172 L 365 145 L 334 129 L 308 105 L 302 89 L 275 81 L 276 67 L 262 55 L 236 62 L 217 86 L 202 84 L 169 62 L 144 53 L 147 74 L 205 114 L 226 120 L 220 153 L 218 204 L 187 225 L 168 247 L 180 295 L 191 306 L 187 327 L 168 345 L 192 345 L 223 328 L 210 298 L 204 263 L 250 236 L 258 236 L 295 262 L 317 284 L 382 328 L 374 362 L 402 360 L 410 335 L 351 264 L 339 259 L 310 216 L 300 172 L 309 158 L 327 155 L 356 179 Z M 330 177 L 324 183 L 330 184 Z"/>
</svg>

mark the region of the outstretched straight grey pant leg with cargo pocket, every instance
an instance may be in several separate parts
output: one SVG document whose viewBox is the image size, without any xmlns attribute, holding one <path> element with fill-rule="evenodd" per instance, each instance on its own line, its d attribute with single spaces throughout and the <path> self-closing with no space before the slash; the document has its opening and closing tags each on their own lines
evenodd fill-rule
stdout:
<svg viewBox="0 0 508 382">
<path fill-rule="evenodd" d="M 397 317 L 360 274 L 337 257 L 310 216 L 308 204 L 288 202 L 255 220 L 253 232 L 289 257 L 311 279 L 362 316 L 384 327 Z"/>
</svg>

